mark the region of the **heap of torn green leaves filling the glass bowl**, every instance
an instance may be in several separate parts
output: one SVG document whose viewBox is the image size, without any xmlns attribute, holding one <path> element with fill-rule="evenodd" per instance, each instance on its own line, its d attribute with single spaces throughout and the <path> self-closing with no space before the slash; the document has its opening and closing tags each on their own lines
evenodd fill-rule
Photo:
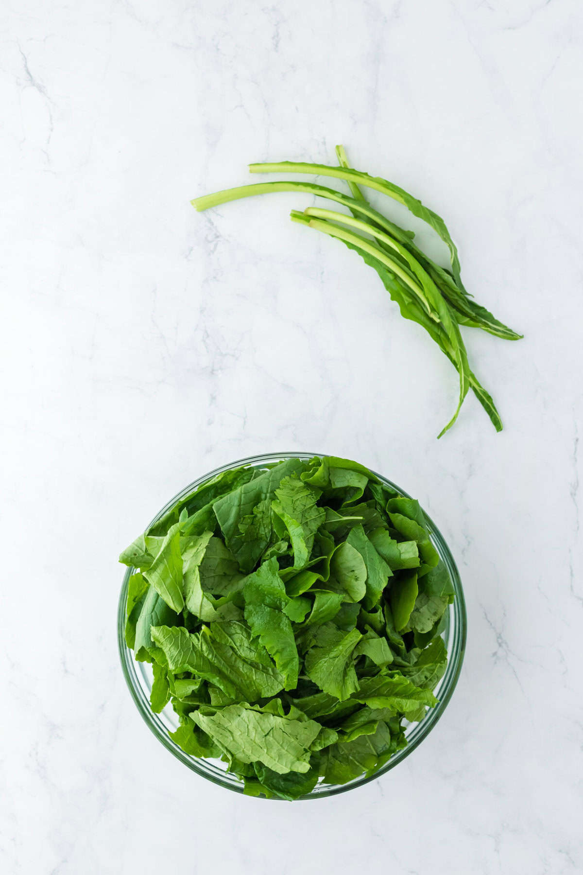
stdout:
<svg viewBox="0 0 583 875">
<path fill-rule="evenodd" d="M 247 794 L 374 774 L 437 701 L 454 589 L 418 502 L 363 465 L 230 469 L 120 561 L 152 711 L 170 703 L 175 743 L 224 760 Z"/>
</svg>

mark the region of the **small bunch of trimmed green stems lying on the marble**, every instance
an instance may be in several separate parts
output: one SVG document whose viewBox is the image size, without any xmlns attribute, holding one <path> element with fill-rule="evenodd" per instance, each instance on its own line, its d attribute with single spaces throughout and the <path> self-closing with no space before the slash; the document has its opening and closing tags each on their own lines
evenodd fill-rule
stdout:
<svg viewBox="0 0 583 875">
<path fill-rule="evenodd" d="M 255 194 L 302 192 L 333 200 L 346 207 L 351 215 L 337 210 L 308 207 L 303 213 L 293 210 L 291 218 L 335 237 L 361 255 L 364 262 L 377 271 L 392 300 L 399 304 L 401 316 L 412 319 L 425 328 L 454 365 L 459 374 L 459 400 L 454 416 L 438 437 L 455 423 L 470 388 L 496 431 L 501 431 L 502 420 L 496 405 L 469 367 L 460 325 L 481 328 L 482 331 L 507 340 L 517 340 L 522 335 L 496 319 L 485 307 L 476 304 L 468 294 L 462 284 L 457 248 L 441 216 L 387 179 L 371 177 L 368 173 L 351 168 L 343 146 L 337 146 L 337 158 L 339 166 L 282 161 L 275 164 L 253 164 L 249 169 L 252 173 L 305 173 L 341 179 L 349 186 L 350 196 L 328 186 L 285 180 L 230 188 L 195 198 L 191 203 L 198 210 L 206 210 Z M 371 207 L 360 186 L 396 200 L 414 216 L 427 222 L 448 247 L 450 268 L 442 268 L 429 258 L 413 242 L 412 231 L 399 228 L 399 225 Z"/>
</svg>

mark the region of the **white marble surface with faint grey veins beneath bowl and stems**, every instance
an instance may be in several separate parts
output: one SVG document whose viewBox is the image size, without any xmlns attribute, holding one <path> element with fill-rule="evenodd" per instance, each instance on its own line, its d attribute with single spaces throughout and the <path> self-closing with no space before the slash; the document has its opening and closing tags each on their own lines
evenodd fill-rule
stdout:
<svg viewBox="0 0 583 875">
<path fill-rule="evenodd" d="M 583 871 L 578 0 L 4 0 L 2 872 Z M 208 214 L 345 144 L 445 215 L 496 435 L 309 199 Z M 201 472 L 328 451 L 434 515 L 468 651 L 392 774 L 279 805 L 190 774 L 115 644 L 119 550 Z"/>
</svg>

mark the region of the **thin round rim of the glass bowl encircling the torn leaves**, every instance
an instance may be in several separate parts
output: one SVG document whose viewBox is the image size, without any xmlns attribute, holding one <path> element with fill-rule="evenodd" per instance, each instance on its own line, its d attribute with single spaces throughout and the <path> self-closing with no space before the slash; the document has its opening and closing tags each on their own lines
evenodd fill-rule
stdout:
<svg viewBox="0 0 583 875">
<path fill-rule="evenodd" d="M 282 461 L 286 458 L 301 458 L 302 460 L 308 460 L 314 457 L 323 458 L 326 455 L 326 453 L 320 452 L 269 452 L 259 453 L 253 456 L 247 456 L 246 458 L 240 458 L 237 461 L 229 462 L 227 465 L 220 465 L 218 468 L 213 469 L 211 472 L 208 472 L 203 476 L 193 480 L 191 483 L 188 484 L 188 486 L 184 486 L 184 489 L 181 489 L 179 493 L 171 498 L 164 505 L 164 507 L 162 507 L 161 510 L 158 511 L 154 519 L 149 522 L 149 525 L 144 530 L 146 530 L 156 521 L 161 519 L 163 517 L 163 514 L 167 513 L 167 511 L 170 510 L 170 507 L 173 507 L 175 504 L 177 504 L 178 501 L 185 498 L 193 490 L 197 489 L 198 486 L 203 486 L 203 484 L 207 480 L 210 480 L 223 472 L 229 471 L 232 468 L 237 468 L 242 465 L 259 466 L 261 463 L 267 464 L 269 462 Z M 392 480 L 386 478 L 384 474 L 379 474 L 372 468 L 369 468 L 369 470 L 371 471 L 371 473 L 375 474 L 375 476 L 378 477 L 378 479 L 380 479 L 381 482 L 384 483 L 386 486 L 392 487 L 404 498 L 411 498 L 411 496 L 406 493 L 404 489 L 402 489 L 400 486 L 397 486 L 397 484 L 393 483 Z M 373 774 L 360 775 L 353 781 L 349 781 L 346 784 L 316 784 L 316 788 L 310 794 L 300 796 L 297 800 L 295 800 L 295 802 L 301 802 L 309 799 L 325 799 L 328 796 L 346 793 L 349 790 L 356 789 L 357 787 L 363 787 L 364 784 L 368 784 L 370 781 L 376 781 L 377 778 L 382 777 L 382 775 L 386 774 L 392 768 L 398 766 L 400 762 L 405 760 L 406 757 L 413 753 L 415 748 L 418 747 L 420 743 L 427 738 L 429 732 L 434 729 L 434 726 L 441 718 L 443 711 L 445 711 L 446 707 L 448 706 L 449 700 L 454 693 L 455 686 L 462 671 L 462 663 L 465 654 L 466 638 L 468 632 L 468 617 L 466 613 L 465 599 L 463 596 L 462 579 L 457 569 L 457 565 L 455 564 L 455 559 L 452 556 L 443 535 L 441 535 L 439 528 L 437 528 L 434 521 L 431 519 L 431 517 L 427 515 L 425 510 L 423 511 L 423 513 L 427 521 L 427 528 L 429 530 L 429 534 L 431 535 L 432 542 L 434 542 L 435 546 L 437 547 L 441 559 L 448 566 L 448 572 L 455 589 L 455 599 L 453 604 L 449 606 L 450 613 L 448 616 L 448 623 L 451 623 L 451 612 L 453 609 L 454 641 L 453 647 L 448 651 L 448 667 L 440 682 L 441 689 L 439 701 L 433 709 L 427 711 L 425 718 L 420 720 L 419 724 L 416 725 L 415 730 L 413 730 L 413 732 L 416 732 L 414 739 L 412 741 L 408 741 L 406 747 L 404 747 L 402 750 L 394 753 L 391 759 L 388 760 L 382 767 L 380 767 L 378 771 L 374 772 Z M 177 744 L 172 739 L 170 739 L 169 732 L 167 728 L 163 725 L 159 716 L 150 709 L 149 700 L 145 697 L 142 686 L 137 680 L 136 662 L 133 656 L 133 651 L 128 648 L 128 645 L 125 641 L 128 583 L 129 577 L 131 577 L 134 571 L 134 568 L 128 568 L 124 574 L 121 583 L 121 592 L 117 610 L 117 642 L 121 660 L 121 669 L 126 679 L 126 683 L 128 684 L 128 689 L 131 697 L 134 699 L 135 705 L 142 715 L 144 722 L 146 723 L 146 725 L 148 725 L 149 730 L 154 733 L 156 739 L 158 739 L 158 741 L 160 741 L 163 746 L 177 758 L 177 760 L 183 762 L 184 766 L 189 767 L 191 771 L 196 772 L 207 781 L 212 781 L 212 783 L 218 784 L 220 787 L 224 787 L 228 790 L 233 790 L 233 792 L 235 793 L 242 794 L 244 792 L 243 784 L 235 784 L 231 781 L 227 781 L 226 778 L 223 777 L 223 775 L 226 776 L 228 773 L 222 773 L 217 771 L 216 774 L 209 774 L 207 769 L 209 769 L 210 766 L 199 765 L 199 763 L 205 763 L 205 760 L 203 758 L 193 757 L 188 753 L 184 753 L 182 748 L 177 746 Z M 265 799 L 266 797 L 261 796 L 258 798 Z M 269 799 L 266 801 L 283 802 L 284 800 L 273 797 L 273 799 Z"/>
</svg>

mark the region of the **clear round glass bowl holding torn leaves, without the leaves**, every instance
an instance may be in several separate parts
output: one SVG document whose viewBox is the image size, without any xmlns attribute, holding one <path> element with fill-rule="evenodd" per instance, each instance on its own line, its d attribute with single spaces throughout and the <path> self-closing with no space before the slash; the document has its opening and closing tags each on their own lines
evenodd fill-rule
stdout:
<svg viewBox="0 0 583 875">
<path fill-rule="evenodd" d="M 182 492 L 170 499 L 168 504 L 156 514 L 156 517 L 152 522 L 159 520 L 166 511 L 170 510 L 170 507 L 173 507 L 173 505 L 177 503 L 177 501 L 184 499 L 186 495 L 191 493 L 198 486 L 202 486 L 206 480 L 211 479 L 219 473 L 227 471 L 229 468 L 236 468 L 240 465 L 253 465 L 253 467 L 261 468 L 269 463 L 280 462 L 286 458 L 309 459 L 314 456 L 322 455 L 323 453 L 315 452 L 274 452 L 266 453 L 261 456 L 242 458 L 237 462 L 232 462 L 230 465 L 223 465 L 223 467 L 217 468 L 215 471 L 211 471 L 203 477 L 194 480 L 194 482 L 190 483 L 188 486 L 185 486 Z M 395 489 L 406 498 L 410 497 L 400 488 L 400 486 L 396 486 L 391 480 L 383 477 L 382 474 L 378 474 L 377 472 L 374 473 L 376 473 L 378 479 L 387 486 L 391 486 L 392 489 Z M 439 718 L 441 718 L 441 714 L 445 710 L 449 699 L 455 690 L 455 684 L 457 683 L 457 679 L 460 676 L 460 671 L 462 669 L 463 655 L 466 647 L 467 617 L 462 591 L 462 581 L 455 566 L 454 557 L 451 555 L 447 543 L 443 540 L 443 537 L 438 528 L 436 528 L 434 522 L 427 517 L 427 514 L 426 519 L 431 539 L 434 542 L 434 547 L 437 549 L 441 559 L 446 564 L 455 589 L 455 599 L 453 604 L 448 608 L 446 627 L 442 635 L 448 648 L 448 668 L 446 669 L 444 676 L 441 678 L 441 681 L 434 689 L 434 694 L 439 699 L 438 704 L 436 704 L 434 708 L 429 709 L 426 717 L 420 720 L 419 723 L 409 724 L 406 727 L 405 734 L 407 746 L 403 748 L 403 750 L 395 753 L 383 767 L 378 769 L 378 772 L 375 772 L 375 774 L 370 776 L 362 775 L 359 778 L 355 778 L 354 781 L 349 781 L 349 783 L 342 785 L 317 784 L 316 788 L 314 788 L 309 795 L 302 796 L 302 799 L 323 799 L 325 796 L 345 793 L 347 790 L 362 787 L 362 785 L 368 783 L 368 781 L 376 780 L 381 775 L 386 774 L 390 769 L 397 766 L 399 762 L 405 760 L 409 754 L 413 753 L 415 748 L 420 745 L 421 741 L 427 737 L 428 733 L 434 728 L 434 725 Z M 219 784 L 221 787 L 225 787 L 228 790 L 234 790 L 235 793 L 242 793 L 243 784 L 233 774 L 226 772 L 226 763 L 221 762 L 221 760 L 204 760 L 190 756 L 188 753 L 184 753 L 184 751 L 178 747 L 172 739 L 170 739 L 169 732 L 174 732 L 178 726 L 177 715 L 172 711 L 170 705 L 167 705 L 160 714 L 155 714 L 150 710 L 149 693 L 152 687 L 151 668 L 148 662 L 135 662 L 133 651 L 128 648 L 124 638 L 128 581 L 132 571 L 133 569 L 131 568 L 126 571 L 123 583 L 121 584 L 121 595 L 117 613 L 117 640 L 120 648 L 121 668 L 123 669 L 123 674 L 128 683 L 129 691 L 137 705 L 138 711 L 142 714 L 142 718 L 149 726 L 149 729 L 156 735 L 156 739 L 161 741 L 163 746 L 166 747 L 170 753 L 173 753 L 178 760 L 181 760 L 181 762 L 184 763 L 184 766 L 188 766 L 193 772 L 196 772 L 203 778 L 207 778 L 215 784 Z"/>
</svg>

